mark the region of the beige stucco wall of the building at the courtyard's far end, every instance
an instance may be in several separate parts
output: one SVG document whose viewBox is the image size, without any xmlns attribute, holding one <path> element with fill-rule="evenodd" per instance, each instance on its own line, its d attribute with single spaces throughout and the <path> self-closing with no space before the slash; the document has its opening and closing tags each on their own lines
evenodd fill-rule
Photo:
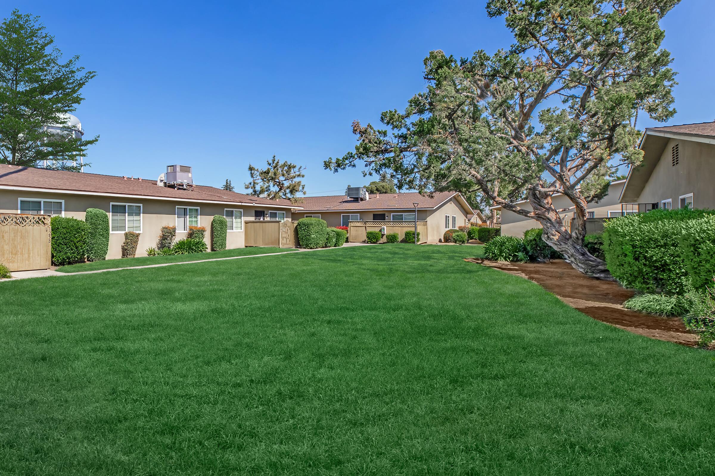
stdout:
<svg viewBox="0 0 715 476">
<path fill-rule="evenodd" d="M 327 222 L 328 227 L 338 227 L 340 226 L 340 223 L 342 222 L 342 215 L 343 214 L 359 214 L 361 220 L 372 220 L 373 219 L 373 214 L 385 214 L 385 219 L 390 221 L 392 214 L 393 213 L 414 213 L 415 209 L 400 209 L 400 210 L 356 210 L 353 212 L 350 211 L 345 211 L 345 210 L 338 210 L 336 212 L 303 212 L 302 210 L 298 212 L 293 212 L 292 219 L 297 220 L 304 218 L 305 215 L 320 215 L 321 219 L 324 219 L 325 222 Z M 418 221 L 423 221 L 427 222 L 427 227 L 428 227 L 428 242 L 429 243 L 437 243 L 442 239 L 442 236 L 445 232 L 445 214 L 450 215 L 450 228 L 451 228 L 451 217 L 454 215 L 457 217 L 456 222 L 457 226 L 460 227 L 462 225 L 467 224 L 467 212 L 457 199 L 452 198 L 449 199 L 447 202 L 443 203 L 440 205 L 440 207 L 437 207 L 436 209 L 430 209 L 430 210 L 420 210 L 418 209 L 417 211 L 417 219 Z M 421 239 L 422 237 L 420 237 Z"/>
</svg>

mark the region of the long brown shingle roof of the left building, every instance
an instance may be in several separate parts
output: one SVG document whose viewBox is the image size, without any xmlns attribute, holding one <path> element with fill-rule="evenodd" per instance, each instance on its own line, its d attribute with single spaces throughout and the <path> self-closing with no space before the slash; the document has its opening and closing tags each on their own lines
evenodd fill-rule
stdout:
<svg viewBox="0 0 715 476">
<path fill-rule="evenodd" d="M 27 189 L 32 192 L 106 195 L 109 197 L 144 197 L 180 202 L 210 202 L 300 209 L 290 200 L 270 200 L 227 190 L 194 185 L 192 190 L 159 187 L 156 180 L 116 177 L 114 175 L 68 172 L 0 164 L 0 189 Z"/>
</svg>

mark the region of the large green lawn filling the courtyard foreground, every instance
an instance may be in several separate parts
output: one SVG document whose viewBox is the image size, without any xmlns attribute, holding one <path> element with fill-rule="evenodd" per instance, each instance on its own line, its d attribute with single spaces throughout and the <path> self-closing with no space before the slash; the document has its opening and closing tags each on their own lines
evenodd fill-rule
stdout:
<svg viewBox="0 0 715 476">
<path fill-rule="evenodd" d="M 0 283 L 0 473 L 705 475 L 714 354 L 405 244 Z"/>
</svg>

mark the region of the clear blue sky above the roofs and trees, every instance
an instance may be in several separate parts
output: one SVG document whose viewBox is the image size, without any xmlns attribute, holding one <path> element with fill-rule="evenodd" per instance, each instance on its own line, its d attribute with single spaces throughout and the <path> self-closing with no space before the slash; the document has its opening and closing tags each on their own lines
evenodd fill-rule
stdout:
<svg viewBox="0 0 715 476">
<path fill-rule="evenodd" d="M 309 194 L 367 183 L 360 169 L 325 171 L 352 150 L 354 119 L 378 122 L 425 86 L 422 61 L 443 49 L 469 56 L 511 44 L 484 1 L 84 2 L 19 1 L 41 16 L 66 54 L 98 72 L 75 113 L 90 137 L 88 172 L 155 179 L 167 164 L 194 167 L 199 184 L 231 179 L 244 192 L 249 163 L 307 167 Z M 5 4 L 3 17 L 12 6 Z M 678 114 L 715 120 L 715 1 L 684 0 L 662 26 L 675 58 Z M 640 128 L 656 125 L 640 121 Z M 337 190 L 337 192 L 329 192 Z"/>
</svg>

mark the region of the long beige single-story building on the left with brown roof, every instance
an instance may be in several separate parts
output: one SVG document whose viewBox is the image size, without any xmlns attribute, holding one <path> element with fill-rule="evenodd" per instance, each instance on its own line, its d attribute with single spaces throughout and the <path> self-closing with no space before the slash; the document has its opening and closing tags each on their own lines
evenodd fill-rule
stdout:
<svg viewBox="0 0 715 476">
<path fill-rule="evenodd" d="M 189 167 L 169 166 L 169 170 Z M 177 239 L 186 237 L 190 226 L 206 227 L 209 244 L 214 215 L 228 222 L 227 248 L 245 246 L 247 220 L 290 219 L 300 205 L 290 200 L 270 200 L 227 192 L 215 187 L 187 184 L 172 186 L 164 179 L 67 172 L 0 164 L 0 213 L 50 214 L 84 219 L 88 208 L 102 209 L 109 216 L 107 259 L 122 256 L 124 232 L 140 233 L 137 256 L 156 247 L 164 225 L 177 227 Z"/>
</svg>

